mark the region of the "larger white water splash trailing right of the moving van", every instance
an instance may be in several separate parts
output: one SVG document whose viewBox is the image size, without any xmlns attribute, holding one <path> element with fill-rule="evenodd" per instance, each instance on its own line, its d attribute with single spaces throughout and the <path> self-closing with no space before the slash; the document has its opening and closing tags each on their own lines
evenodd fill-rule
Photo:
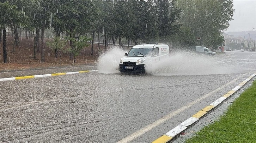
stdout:
<svg viewBox="0 0 256 143">
<path fill-rule="evenodd" d="M 157 63 L 145 65 L 146 73 L 152 75 L 208 75 L 228 73 L 226 67 L 215 63 L 216 57 L 193 52 L 177 52 Z"/>
</svg>

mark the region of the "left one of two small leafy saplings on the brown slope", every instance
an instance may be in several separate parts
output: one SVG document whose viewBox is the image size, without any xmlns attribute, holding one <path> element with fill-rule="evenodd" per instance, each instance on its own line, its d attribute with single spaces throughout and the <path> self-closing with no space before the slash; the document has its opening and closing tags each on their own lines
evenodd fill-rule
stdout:
<svg viewBox="0 0 256 143">
<path fill-rule="evenodd" d="M 65 53 L 65 45 L 67 44 L 67 41 L 62 41 L 60 40 L 59 37 L 56 37 L 53 39 L 53 41 L 49 41 L 49 42 L 46 42 L 46 45 L 54 50 L 55 52 L 55 58 L 57 59 L 57 55 L 59 54 L 60 55 L 60 58 L 61 58 L 61 53 Z M 60 60 L 59 60 L 59 63 L 60 63 Z"/>
</svg>

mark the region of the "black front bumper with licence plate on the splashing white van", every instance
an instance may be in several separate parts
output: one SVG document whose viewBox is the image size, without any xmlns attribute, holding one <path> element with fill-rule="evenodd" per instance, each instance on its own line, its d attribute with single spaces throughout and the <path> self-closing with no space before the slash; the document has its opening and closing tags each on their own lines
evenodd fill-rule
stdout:
<svg viewBox="0 0 256 143">
<path fill-rule="evenodd" d="M 145 67 L 144 67 L 144 64 L 136 65 L 135 62 L 123 62 L 123 64 L 119 64 L 119 71 L 123 73 L 134 73 L 134 72 L 145 73 Z"/>
</svg>

